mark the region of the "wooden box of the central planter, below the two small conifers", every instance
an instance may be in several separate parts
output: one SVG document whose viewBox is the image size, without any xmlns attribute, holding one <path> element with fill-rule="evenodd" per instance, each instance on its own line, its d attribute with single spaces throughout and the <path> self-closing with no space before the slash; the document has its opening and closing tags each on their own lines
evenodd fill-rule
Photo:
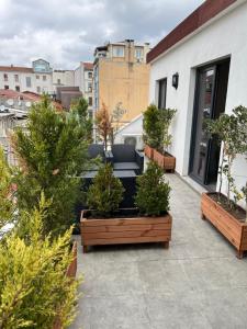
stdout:
<svg viewBox="0 0 247 329">
<path fill-rule="evenodd" d="M 83 252 L 89 246 L 164 242 L 169 248 L 172 218 L 169 214 L 161 217 L 128 217 L 87 219 L 90 211 L 81 212 L 80 231 Z"/>
</svg>

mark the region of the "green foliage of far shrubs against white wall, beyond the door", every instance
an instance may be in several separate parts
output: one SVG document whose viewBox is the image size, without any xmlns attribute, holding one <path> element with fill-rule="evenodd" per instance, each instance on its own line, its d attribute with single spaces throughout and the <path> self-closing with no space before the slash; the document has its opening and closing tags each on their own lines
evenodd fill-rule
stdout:
<svg viewBox="0 0 247 329">
<path fill-rule="evenodd" d="M 160 151 L 167 150 L 171 145 L 172 136 L 169 134 L 169 127 L 177 110 L 158 109 L 150 104 L 144 112 L 144 141 Z"/>
</svg>

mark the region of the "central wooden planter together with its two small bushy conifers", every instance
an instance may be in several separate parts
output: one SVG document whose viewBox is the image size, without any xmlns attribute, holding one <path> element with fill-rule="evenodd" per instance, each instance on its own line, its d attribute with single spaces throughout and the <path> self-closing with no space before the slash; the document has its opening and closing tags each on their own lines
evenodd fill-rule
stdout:
<svg viewBox="0 0 247 329">
<path fill-rule="evenodd" d="M 114 243 L 164 242 L 168 248 L 171 238 L 169 192 L 162 170 L 149 162 L 147 171 L 137 179 L 137 208 L 119 209 L 123 188 L 106 164 L 89 189 L 88 205 L 94 211 L 81 213 L 83 252 L 89 246 Z"/>
</svg>

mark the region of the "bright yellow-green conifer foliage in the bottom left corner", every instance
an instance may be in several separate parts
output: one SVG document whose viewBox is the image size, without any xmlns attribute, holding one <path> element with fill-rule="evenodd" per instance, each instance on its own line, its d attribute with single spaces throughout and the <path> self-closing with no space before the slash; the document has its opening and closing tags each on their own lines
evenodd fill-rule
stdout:
<svg viewBox="0 0 247 329">
<path fill-rule="evenodd" d="M 78 282 L 66 275 L 72 260 L 71 229 L 52 240 L 44 238 L 46 204 L 23 213 L 25 237 L 15 232 L 0 243 L 0 328 L 53 328 L 59 315 L 63 328 L 75 317 Z M 26 218 L 24 218 L 26 217 Z"/>
</svg>

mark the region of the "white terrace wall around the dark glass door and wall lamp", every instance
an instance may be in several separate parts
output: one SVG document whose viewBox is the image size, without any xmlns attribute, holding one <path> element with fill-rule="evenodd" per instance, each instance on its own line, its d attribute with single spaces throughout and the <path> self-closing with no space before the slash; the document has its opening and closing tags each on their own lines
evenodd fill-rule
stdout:
<svg viewBox="0 0 247 329">
<path fill-rule="evenodd" d="M 232 10 L 231 10 L 232 9 Z M 167 78 L 167 107 L 178 110 L 171 131 L 170 152 L 177 158 L 176 170 L 188 174 L 194 86 L 197 67 L 231 56 L 226 113 L 242 104 L 247 106 L 247 2 L 239 0 L 224 15 L 200 32 L 175 46 L 151 63 L 149 102 L 157 104 L 157 80 Z M 171 86 L 172 75 L 179 73 L 179 87 Z M 247 173 L 247 162 L 235 161 L 235 179 L 240 184 Z"/>
</svg>

